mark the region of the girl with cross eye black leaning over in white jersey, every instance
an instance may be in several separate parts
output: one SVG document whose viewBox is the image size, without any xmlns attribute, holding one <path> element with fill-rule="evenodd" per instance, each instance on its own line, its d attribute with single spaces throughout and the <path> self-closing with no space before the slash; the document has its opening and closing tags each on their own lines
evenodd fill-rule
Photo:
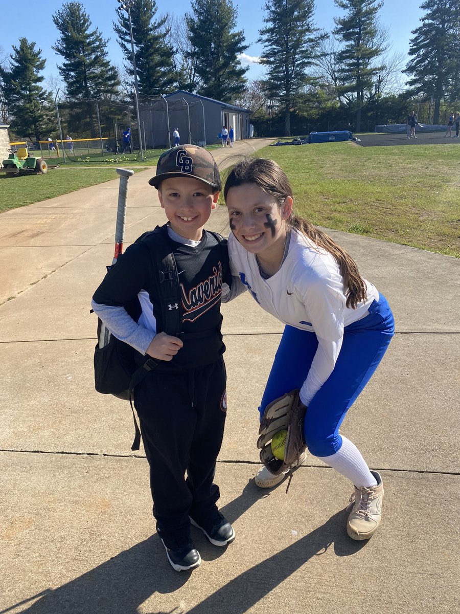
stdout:
<svg viewBox="0 0 460 614">
<path fill-rule="evenodd" d="M 300 389 L 307 448 L 355 485 L 347 532 L 368 539 L 380 524 L 383 483 L 339 427 L 388 348 L 391 309 L 342 247 L 294 214 L 293 191 L 277 163 L 237 163 L 224 197 L 232 274 L 286 324 L 259 411 Z M 263 467 L 255 481 L 269 488 L 283 478 Z"/>
</svg>

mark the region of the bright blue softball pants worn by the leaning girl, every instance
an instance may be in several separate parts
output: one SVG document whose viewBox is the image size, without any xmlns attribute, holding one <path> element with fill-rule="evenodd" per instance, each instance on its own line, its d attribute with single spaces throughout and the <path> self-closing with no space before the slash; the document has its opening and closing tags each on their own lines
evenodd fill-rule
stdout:
<svg viewBox="0 0 460 614">
<path fill-rule="evenodd" d="M 342 446 L 340 424 L 371 378 L 394 334 L 394 319 L 380 294 L 369 315 L 345 327 L 334 370 L 312 398 L 304 421 L 307 448 L 315 456 L 331 456 Z M 301 388 L 318 348 L 315 333 L 287 325 L 278 346 L 259 411 L 275 398 Z"/>
</svg>

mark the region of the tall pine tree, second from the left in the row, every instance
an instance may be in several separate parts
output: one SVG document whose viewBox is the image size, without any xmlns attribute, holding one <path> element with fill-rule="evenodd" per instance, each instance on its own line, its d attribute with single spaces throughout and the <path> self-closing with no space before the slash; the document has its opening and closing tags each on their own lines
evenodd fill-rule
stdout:
<svg viewBox="0 0 460 614">
<path fill-rule="evenodd" d="M 66 83 L 67 96 L 83 103 L 94 136 L 91 101 L 116 95 L 120 85 L 117 69 L 107 60 L 108 39 L 102 38 L 98 28 L 91 30 L 90 17 L 80 2 L 63 4 L 53 21 L 61 33 L 53 49 L 64 58 L 59 74 Z"/>
</svg>

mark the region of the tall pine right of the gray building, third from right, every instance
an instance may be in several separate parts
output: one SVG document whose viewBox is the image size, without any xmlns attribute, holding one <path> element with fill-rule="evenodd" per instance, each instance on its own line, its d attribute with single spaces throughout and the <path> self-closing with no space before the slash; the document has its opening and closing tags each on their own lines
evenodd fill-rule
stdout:
<svg viewBox="0 0 460 614">
<path fill-rule="evenodd" d="M 313 24 L 313 0 L 269 0 L 259 41 L 268 66 L 269 90 L 285 115 L 285 136 L 291 136 L 291 109 L 311 78 L 307 69 L 315 61 L 320 41 L 326 36 Z"/>
</svg>

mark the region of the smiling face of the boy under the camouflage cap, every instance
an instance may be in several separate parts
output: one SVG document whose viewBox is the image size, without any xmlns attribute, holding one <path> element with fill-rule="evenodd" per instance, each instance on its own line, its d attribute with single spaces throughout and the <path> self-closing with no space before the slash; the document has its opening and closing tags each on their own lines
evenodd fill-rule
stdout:
<svg viewBox="0 0 460 614">
<path fill-rule="evenodd" d="M 170 177 L 159 184 L 158 198 L 172 230 L 199 241 L 219 192 L 213 193 L 212 187 L 193 177 Z"/>
</svg>

